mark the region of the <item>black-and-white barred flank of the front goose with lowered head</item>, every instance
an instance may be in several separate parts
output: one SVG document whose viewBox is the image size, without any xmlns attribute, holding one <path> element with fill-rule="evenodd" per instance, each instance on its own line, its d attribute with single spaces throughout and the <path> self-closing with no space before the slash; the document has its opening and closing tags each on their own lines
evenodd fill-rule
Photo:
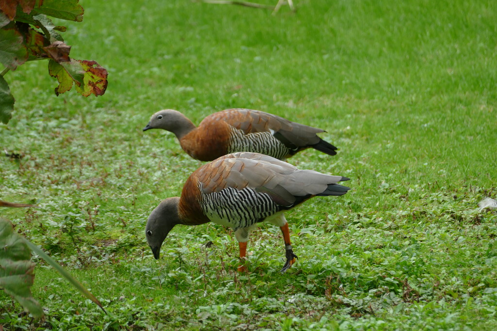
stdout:
<svg viewBox="0 0 497 331">
<path fill-rule="evenodd" d="M 199 185 L 200 192 L 202 186 Z M 230 226 L 235 230 L 246 228 L 280 210 L 266 193 L 245 188 L 238 191 L 226 188 L 220 192 L 201 194 L 200 206 L 214 223 Z"/>
</svg>

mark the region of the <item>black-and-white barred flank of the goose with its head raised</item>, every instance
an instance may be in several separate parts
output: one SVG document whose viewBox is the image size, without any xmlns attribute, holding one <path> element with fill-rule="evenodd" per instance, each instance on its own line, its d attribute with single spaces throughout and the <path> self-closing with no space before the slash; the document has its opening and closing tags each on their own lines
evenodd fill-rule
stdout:
<svg viewBox="0 0 497 331">
<path fill-rule="evenodd" d="M 282 159 L 288 155 L 288 148 L 271 132 L 255 132 L 244 134 L 233 128 L 228 143 L 228 153 L 256 152 Z"/>
</svg>

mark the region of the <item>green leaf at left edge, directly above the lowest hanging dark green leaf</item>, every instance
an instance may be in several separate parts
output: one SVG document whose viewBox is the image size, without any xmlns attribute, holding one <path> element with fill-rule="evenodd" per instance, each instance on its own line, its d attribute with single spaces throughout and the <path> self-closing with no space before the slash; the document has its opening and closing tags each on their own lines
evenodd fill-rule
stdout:
<svg viewBox="0 0 497 331">
<path fill-rule="evenodd" d="M 0 29 L 0 62 L 12 70 L 22 65 L 28 58 L 28 51 L 23 44 L 22 35 L 9 24 Z"/>
</svg>

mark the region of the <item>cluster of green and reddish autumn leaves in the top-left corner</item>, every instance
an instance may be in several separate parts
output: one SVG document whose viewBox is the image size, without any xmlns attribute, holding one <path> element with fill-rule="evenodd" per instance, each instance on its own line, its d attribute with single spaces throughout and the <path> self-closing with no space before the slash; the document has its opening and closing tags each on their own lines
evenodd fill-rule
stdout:
<svg viewBox="0 0 497 331">
<path fill-rule="evenodd" d="M 48 16 L 81 22 L 83 7 L 78 0 L 1 1 L 0 63 L 6 67 L 2 75 L 27 61 L 48 59 L 49 73 L 59 82 L 56 95 L 69 91 L 73 84 L 83 96 L 104 94 L 107 70 L 94 61 L 70 58 L 71 46 L 66 45 L 59 34 L 66 31 L 66 27 L 55 26 Z M 0 84 L 0 94 L 8 101 L 0 103 L 0 121 L 7 123 L 13 97 L 3 77 Z"/>
</svg>

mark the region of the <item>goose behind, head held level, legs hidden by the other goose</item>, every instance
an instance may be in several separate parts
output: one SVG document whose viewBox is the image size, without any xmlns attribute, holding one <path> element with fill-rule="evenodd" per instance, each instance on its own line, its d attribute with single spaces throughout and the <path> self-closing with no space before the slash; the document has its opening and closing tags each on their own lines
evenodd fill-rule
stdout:
<svg viewBox="0 0 497 331">
<path fill-rule="evenodd" d="M 176 135 L 194 159 L 212 161 L 234 152 L 254 152 L 286 159 L 312 147 L 329 155 L 336 147 L 316 133 L 324 130 L 251 109 L 226 109 L 207 116 L 198 127 L 176 110 L 161 110 L 143 129 L 164 129 Z"/>
</svg>

